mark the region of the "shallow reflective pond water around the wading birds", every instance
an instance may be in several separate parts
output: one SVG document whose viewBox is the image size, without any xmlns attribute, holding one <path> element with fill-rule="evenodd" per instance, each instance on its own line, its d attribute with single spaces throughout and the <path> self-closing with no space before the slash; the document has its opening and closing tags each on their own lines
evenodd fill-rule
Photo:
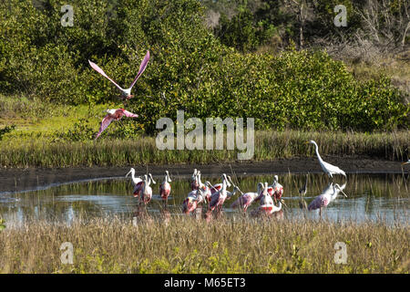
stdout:
<svg viewBox="0 0 410 292">
<path fill-rule="evenodd" d="M 230 174 L 230 173 L 228 173 Z M 172 191 L 169 196 L 167 213 L 182 215 L 183 200 L 190 192 L 187 179 L 172 177 Z M 163 177 L 154 177 L 157 184 L 151 185 L 153 197 L 147 206 L 147 214 L 163 213 L 163 204 L 159 197 L 159 184 Z M 272 183 L 272 175 L 240 175 L 232 176 L 234 183 L 238 183 L 243 193 L 256 192 L 259 182 Z M 281 219 L 306 220 L 319 218 L 318 210 L 306 211 L 300 208 L 302 197 L 299 188 L 305 183 L 306 175 L 282 174 L 283 199 L 287 207 L 278 213 Z M 218 176 L 202 177 L 202 182 L 220 183 Z M 347 181 L 343 177 L 334 179 L 334 183 L 346 183 L 344 193 L 329 203 L 323 209 L 322 216 L 333 221 L 382 221 L 387 224 L 407 224 L 409 211 L 409 179 L 408 174 L 351 174 Z M 330 183 L 324 174 L 309 174 L 307 193 L 303 200 L 309 204 L 314 197 L 323 193 Z M 129 178 L 113 178 L 93 180 L 82 183 L 65 183 L 62 185 L 41 186 L 37 191 L 25 193 L 0 193 L 0 217 L 7 224 L 22 224 L 27 220 L 46 220 L 47 222 L 65 222 L 69 224 L 76 218 L 104 217 L 119 215 L 130 218 L 136 215 L 138 199 L 132 195 L 133 183 Z M 230 191 L 232 190 L 232 187 Z M 241 194 L 237 193 L 223 205 L 223 212 L 227 216 L 240 215 L 239 210 L 230 208 L 231 203 Z M 248 209 L 258 207 L 253 203 Z M 205 207 L 203 208 L 205 210 Z"/>
</svg>

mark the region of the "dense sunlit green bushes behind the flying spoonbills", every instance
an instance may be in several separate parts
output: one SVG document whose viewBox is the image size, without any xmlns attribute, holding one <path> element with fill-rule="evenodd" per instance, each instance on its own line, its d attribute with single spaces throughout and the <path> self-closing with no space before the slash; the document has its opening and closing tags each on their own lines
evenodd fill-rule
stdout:
<svg viewBox="0 0 410 292">
<path fill-rule="evenodd" d="M 259 129 L 409 125 L 409 106 L 388 78 L 359 82 L 323 52 L 237 52 L 204 26 L 196 0 L 77 0 L 72 27 L 60 23 L 65 3 L 40 3 L 0 4 L 1 92 L 65 104 L 118 101 L 118 90 L 87 60 L 126 87 L 149 49 L 149 66 L 128 103 L 139 118 L 123 120 L 122 137 L 139 129 L 153 133 L 156 121 L 175 120 L 177 109 L 187 119 L 252 117 Z"/>
</svg>

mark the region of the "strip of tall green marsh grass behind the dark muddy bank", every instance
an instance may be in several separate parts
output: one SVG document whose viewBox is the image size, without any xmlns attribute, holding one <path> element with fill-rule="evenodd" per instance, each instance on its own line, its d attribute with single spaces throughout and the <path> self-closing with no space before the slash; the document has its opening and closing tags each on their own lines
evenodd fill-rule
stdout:
<svg viewBox="0 0 410 292">
<path fill-rule="evenodd" d="M 256 131 L 253 161 L 313 157 L 314 140 L 322 155 L 365 156 L 393 161 L 408 157 L 410 131 L 380 133 Z M 2 167 L 125 166 L 136 164 L 235 162 L 238 150 L 159 151 L 155 137 L 135 140 L 58 141 L 30 140 L 0 142 Z"/>
</svg>

